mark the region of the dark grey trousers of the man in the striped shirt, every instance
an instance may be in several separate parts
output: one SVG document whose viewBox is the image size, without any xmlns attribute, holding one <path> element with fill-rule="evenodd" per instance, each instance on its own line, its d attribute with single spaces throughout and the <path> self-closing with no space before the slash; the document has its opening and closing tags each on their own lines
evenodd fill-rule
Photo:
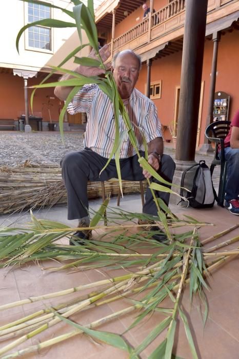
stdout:
<svg viewBox="0 0 239 359">
<path fill-rule="evenodd" d="M 144 157 L 143 151 L 140 154 Z M 99 176 L 102 168 L 106 165 L 108 159 L 104 158 L 89 148 L 79 152 L 69 152 L 62 161 L 62 176 L 67 189 L 68 198 L 68 220 L 75 220 L 88 215 L 88 196 L 87 183 L 107 181 L 110 178 L 117 178 L 115 160 L 111 159 L 107 168 Z M 142 167 L 138 163 L 137 155 L 120 159 L 122 179 L 127 181 L 143 181 Z M 173 159 L 163 154 L 158 173 L 167 181 L 172 182 L 175 164 Z M 158 182 L 153 178 L 153 182 Z M 170 194 L 167 192 L 155 191 L 156 197 L 168 205 Z M 156 205 L 153 201 L 152 193 L 148 188 L 145 196 L 145 205 L 143 213 L 157 215 Z"/>
</svg>

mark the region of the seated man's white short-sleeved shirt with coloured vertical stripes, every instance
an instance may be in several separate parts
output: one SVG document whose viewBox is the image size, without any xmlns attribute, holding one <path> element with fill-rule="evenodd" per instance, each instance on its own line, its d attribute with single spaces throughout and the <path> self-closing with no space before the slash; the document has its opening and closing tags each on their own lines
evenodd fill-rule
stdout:
<svg viewBox="0 0 239 359">
<path fill-rule="evenodd" d="M 156 137 L 163 137 L 156 106 L 148 97 L 134 89 L 127 103 L 124 101 L 124 104 L 136 136 L 138 149 L 145 150 L 142 133 L 147 143 Z M 74 96 L 67 110 L 71 115 L 78 112 L 87 113 L 84 145 L 99 155 L 109 158 L 115 140 L 114 110 L 109 97 L 97 85 L 85 85 Z M 120 158 L 127 158 L 135 155 L 136 152 L 130 143 L 122 116 L 119 122 L 120 133 L 124 137 Z"/>
</svg>

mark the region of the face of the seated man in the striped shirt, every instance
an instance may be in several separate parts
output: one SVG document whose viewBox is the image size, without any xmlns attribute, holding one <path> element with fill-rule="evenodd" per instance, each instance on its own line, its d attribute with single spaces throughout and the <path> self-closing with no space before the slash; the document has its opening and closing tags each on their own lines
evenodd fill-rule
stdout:
<svg viewBox="0 0 239 359">
<path fill-rule="evenodd" d="M 112 71 L 118 92 L 123 99 L 128 98 L 134 89 L 140 72 L 137 58 L 131 53 L 118 55 L 115 68 Z"/>
</svg>

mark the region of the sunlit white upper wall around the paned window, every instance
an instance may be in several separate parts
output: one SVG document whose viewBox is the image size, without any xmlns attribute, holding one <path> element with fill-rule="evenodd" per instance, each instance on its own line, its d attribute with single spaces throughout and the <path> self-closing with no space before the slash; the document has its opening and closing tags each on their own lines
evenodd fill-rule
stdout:
<svg viewBox="0 0 239 359">
<path fill-rule="evenodd" d="M 48 0 L 45 0 L 50 2 Z M 67 10 L 72 10 L 73 4 L 70 0 L 53 0 L 56 6 Z M 26 35 L 21 36 L 19 42 L 19 54 L 16 50 L 16 36 L 18 31 L 27 24 L 25 22 L 25 10 L 28 3 L 21 0 L 1 0 L 0 7 L 0 67 L 38 71 L 43 68 L 51 56 L 65 43 L 75 28 L 53 29 L 51 53 L 42 51 L 28 50 L 25 47 Z M 73 22 L 72 18 L 62 10 L 52 9 L 52 17 Z M 26 30 L 27 31 L 27 30 Z"/>
</svg>

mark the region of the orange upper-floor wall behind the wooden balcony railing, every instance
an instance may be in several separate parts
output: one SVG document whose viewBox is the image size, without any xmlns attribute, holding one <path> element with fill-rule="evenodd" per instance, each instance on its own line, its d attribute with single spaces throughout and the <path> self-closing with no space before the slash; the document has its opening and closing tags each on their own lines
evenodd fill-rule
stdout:
<svg viewBox="0 0 239 359">
<path fill-rule="evenodd" d="M 146 4 L 148 7 L 150 6 L 150 1 L 147 1 Z M 153 8 L 155 11 L 160 10 L 161 8 L 165 7 L 168 4 L 168 0 L 154 0 Z M 116 10 L 117 11 L 117 10 Z M 137 26 L 142 19 L 143 19 L 144 11 L 142 6 L 128 15 L 120 24 L 115 27 L 115 38 L 122 35 L 124 32 L 128 31 L 129 29 Z M 139 21 L 136 21 L 136 18 L 140 17 Z"/>
</svg>

